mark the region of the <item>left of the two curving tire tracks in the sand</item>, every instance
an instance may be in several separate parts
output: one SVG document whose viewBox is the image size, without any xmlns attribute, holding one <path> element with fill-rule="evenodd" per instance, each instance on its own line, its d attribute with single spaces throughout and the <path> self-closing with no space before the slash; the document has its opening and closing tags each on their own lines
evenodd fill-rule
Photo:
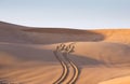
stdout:
<svg viewBox="0 0 130 84">
<path fill-rule="evenodd" d="M 57 52 L 54 51 L 53 53 L 54 53 L 54 56 L 60 61 L 60 64 L 62 65 L 62 68 L 63 68 L 62 75 L 53 84 L 61 84 L 67 78 L 67 74 L 68 74 L 69 71 L 68 71 L 67 64 L 58 57 Z"/>
</svg>

